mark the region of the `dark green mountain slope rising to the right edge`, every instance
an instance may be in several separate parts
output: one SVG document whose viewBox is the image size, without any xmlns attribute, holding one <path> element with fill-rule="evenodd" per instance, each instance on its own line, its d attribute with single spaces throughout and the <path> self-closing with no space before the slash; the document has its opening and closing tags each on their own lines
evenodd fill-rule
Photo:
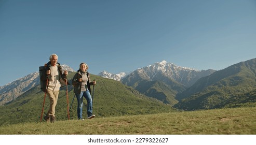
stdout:
<svg viewBox="0 0 256 145">
<path fill-rule="evenodd" d="M 230 104 L 227 100 L 247 96 L 255 88 L 256 59 L 252 59 L 199 79 L 191 88 L 177 95 L 176 99 L 180 101 L 174 107 L 184 110 L 224 107 L 225 102 Z"/>
</svg>

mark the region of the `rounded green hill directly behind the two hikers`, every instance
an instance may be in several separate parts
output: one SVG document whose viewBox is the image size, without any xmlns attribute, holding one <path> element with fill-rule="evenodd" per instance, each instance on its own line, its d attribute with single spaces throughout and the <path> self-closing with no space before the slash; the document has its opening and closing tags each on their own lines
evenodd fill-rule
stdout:
<svg viewBox="0 0 256 145">
<path fill-rule="evenodd" d="M 71 80 L 75 72 L 68 75 Z M 91 79 L 96 79 L 95 91 L 93 96 L 93 113 L 96 117 L 111 117 L 119 115 L 151 114 L 159 112 L 174 111 L 170 105 L 165 105 L 157 99 L 147 97 L 138 91 L 111 79 L 91 75 Z M 69 85 L 69 105 L 74 98 L 73 86 Z M 21 122 L 39 122 L 43 106 L 44 92 L 40 91 L 39 86 L 27 91 L 11 103 L 0 106 L 1 120 L 0 125 L 14 124 Z M 86 105 L 86 99 L 84 99 Z M 70 111 L 70 118 L 77 119 L 76 113 L 77 100 L 74 98 L 73 106 Z M 49 98 L 46 96 L 44 113 L 49 109 Z M 57 121 L 68 120 L 65 87 L 61 88 L 58 103 L 56 106 Z M 86 106 L 83 110 L 86 117 Z"/>
</svg>

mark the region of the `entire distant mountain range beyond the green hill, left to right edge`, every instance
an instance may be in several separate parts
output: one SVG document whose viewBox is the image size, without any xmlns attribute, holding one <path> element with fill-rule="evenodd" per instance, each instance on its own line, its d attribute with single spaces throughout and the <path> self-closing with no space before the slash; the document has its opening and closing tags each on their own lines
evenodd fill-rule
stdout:
<svg viewBox="0 0 256 145">
<path fill-rule="evenodd" d="M 145 96 L 175 108 L 198 110 L 254 104 L 255 66 L 256 59 L 252 59 L 218 71 L 196 70 L 162 61 L 129 74 L 103 71 L 98 76 L 122 82 Z M 74 72 L 72 68 L 69 69 Z M 10 103 L 38 84 L 38 72 L 34 72 L 1 86 L 0 105 Z"/>
</svg>

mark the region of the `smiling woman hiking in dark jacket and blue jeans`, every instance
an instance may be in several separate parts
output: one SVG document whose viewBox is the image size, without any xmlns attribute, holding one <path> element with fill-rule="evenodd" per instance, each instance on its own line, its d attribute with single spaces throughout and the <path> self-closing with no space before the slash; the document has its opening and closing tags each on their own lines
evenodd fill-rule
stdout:
<svg viewBox="0 0 256 145">
<path fill-rule="evenodd" d="M 92 119 L 95 117 L 92 114 L 92 99 L 90 94 L 90 85 L 96 84 L 96 81 L 90 81 L 90 75 L 87 71 L 88 65 L 86 63 L 81 63 L 79 65 L 79 70 L 73 77 L 72 84 L 74 85 L 74 93 L 77 98 L 77 117 L 79 120 L 83 120 L 83 97 L 87 100 L 87 118 Z"/>
</svg>

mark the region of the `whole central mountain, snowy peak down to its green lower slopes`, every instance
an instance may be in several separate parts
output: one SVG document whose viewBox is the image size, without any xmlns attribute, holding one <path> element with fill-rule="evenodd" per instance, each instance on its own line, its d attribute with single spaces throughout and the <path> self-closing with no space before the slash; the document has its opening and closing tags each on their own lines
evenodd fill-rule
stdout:
<svg viewBox="0 0 256 145">
<path fill-rule="evenodd" d="M 199 78 L 208 76 L 214 71 L 180 67 L 162 61 L 134 70 L 121 81 L 142 94 L 174 105 L 178 103 L 175 98 L 178 93 L 185 91 Z"/>
</svg>

